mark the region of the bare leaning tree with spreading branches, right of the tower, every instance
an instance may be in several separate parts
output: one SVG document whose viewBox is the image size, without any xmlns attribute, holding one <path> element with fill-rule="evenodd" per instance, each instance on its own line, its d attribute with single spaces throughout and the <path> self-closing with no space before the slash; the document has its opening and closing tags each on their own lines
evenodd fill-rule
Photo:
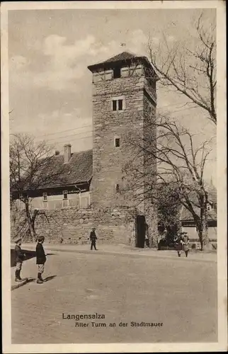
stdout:
<svg viewBox="0 0 228 354">
<path fill-rule="evenodd" d="M 125 143 L 130 144 L 137 152 L 137 158 L 144 156 L 147 168 L 137 168 L 132 161 L 125 166 L 126 175 L 134 175 L 134 183 L 126 183 L 126 188 L 132 190 L 135 201 L 140 203 L 151 200 L 158 205 L 161 195 L 154 188 L 154 183 L 162 183 L 164 187 L 175 187 L 178 202 L 181 203 L 193 217 L 201 249 L 207 248 L 209 238 L 207 232 L 208 195 L 205 185 L 205 163 L 212 151 L 212 139 L 201 144 L 195 144 L 195 136 L 188 129 L 178 125 L 168 116 L 160 115 L 156 120 L 147 120 L 147 132 L 156 129 L 156 142 L 152 137 L 137 139 L 132 133 L 127 134 Z M 156 161 L 156 169 L 154 164 Z M 173 185 L 173 186 L 171 186 Z M 161 190 L 160 190 L 161 193 Z"/>
</svg>

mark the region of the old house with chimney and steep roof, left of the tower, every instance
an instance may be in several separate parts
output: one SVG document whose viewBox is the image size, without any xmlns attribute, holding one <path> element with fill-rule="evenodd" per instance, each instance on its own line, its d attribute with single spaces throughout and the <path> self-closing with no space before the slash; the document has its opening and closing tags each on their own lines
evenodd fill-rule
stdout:
<svg viewBox="0 0 228 354">
<path fill-rule="evenodd" d="M 64 145 L 64 154 L 59 151 L 50 159 L 49 169 L 55 171 L 55 178 L 51 178 L 38 189 L 27 190 L 34 208 L 55 210 L 64 207 L 89 207 L 90 184 L 93 176 L 93 152 L 71 151 L 71 144 Z M 48 173 L 49 170 L 42 171 Z M 18 193 L 14 198 L 21 200 Z M 23 208 L 23 202 L 19 204 Z"/>
</svg>

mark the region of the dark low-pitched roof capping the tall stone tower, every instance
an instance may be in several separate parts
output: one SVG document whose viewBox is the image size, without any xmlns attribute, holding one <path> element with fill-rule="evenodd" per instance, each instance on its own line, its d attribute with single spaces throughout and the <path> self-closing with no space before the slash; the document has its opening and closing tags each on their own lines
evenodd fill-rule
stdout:
<svg viewBox="0 0 228 354">
<path fill-rule="evenodd" d="M 152 64 L 147 59 L 147 57 L 138 56 L 138 55 L 135 55 L 130 52 L 122 52 L 118 55 L 115 55 L 114 57 L 110 57 L 109 59 L 107 59 L 103 62 L 89 65 L 88 69 L 91 72 L 93 72 L 93 71 L 96 71 L 97 69 L 111 69 L 111 68 L 121 65 L 121 64 L 130 64 L 131 62 L 134 62 L 134 63 L 141 62 L 146 67 L 149 67 L 149 69 L 154 69 L 152 67 Z"/>
</svg>

